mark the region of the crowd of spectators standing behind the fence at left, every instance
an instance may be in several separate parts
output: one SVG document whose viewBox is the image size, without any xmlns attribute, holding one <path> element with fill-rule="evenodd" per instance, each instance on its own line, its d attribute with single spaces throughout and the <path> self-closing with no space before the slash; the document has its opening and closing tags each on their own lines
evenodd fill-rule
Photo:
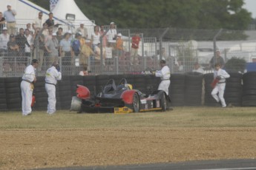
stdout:
<svg viewBox="0 0 256 170">
<path fill-rule="evenodd" d="M 0 56 L 19 57 L 17 61 L 24 61 L 19 64 L 26 65 L 24 58 L 37 58 L 40 70 L 45 61 L 52 63 L 62 57 L 63 65 L 73 66 L 75 58 L 79 58 L 80 66 L 88 66 L 91 60 L 100 61 L 101 53 L 105 62 L 106 50 L 110 50 L 112 56 L 124 55 L 122 34 L 117 33 L 113 21 L 107 33 L 103 26 L 95 25 L 93 33 L 89 36 L 83 23 L 80 23 L 75 32 L 67 30 L 64 33 L 63 28 L 55 24 L 53 13 L 49 13 L 49 18 L 44 21 L 42 12 L 39 12 L 39 16 L 32 23 L 16 30 L 15 16 L 16 12 L 11 9 L 10 4 L 7 4 L 7 11 L 0 12 Z M 104 36 L 100 41 L 102 35 Z M 137 60 L 139 43 L 140 36 L 137 34 L 132 38 L 131 64 Z"/>
</svg>

